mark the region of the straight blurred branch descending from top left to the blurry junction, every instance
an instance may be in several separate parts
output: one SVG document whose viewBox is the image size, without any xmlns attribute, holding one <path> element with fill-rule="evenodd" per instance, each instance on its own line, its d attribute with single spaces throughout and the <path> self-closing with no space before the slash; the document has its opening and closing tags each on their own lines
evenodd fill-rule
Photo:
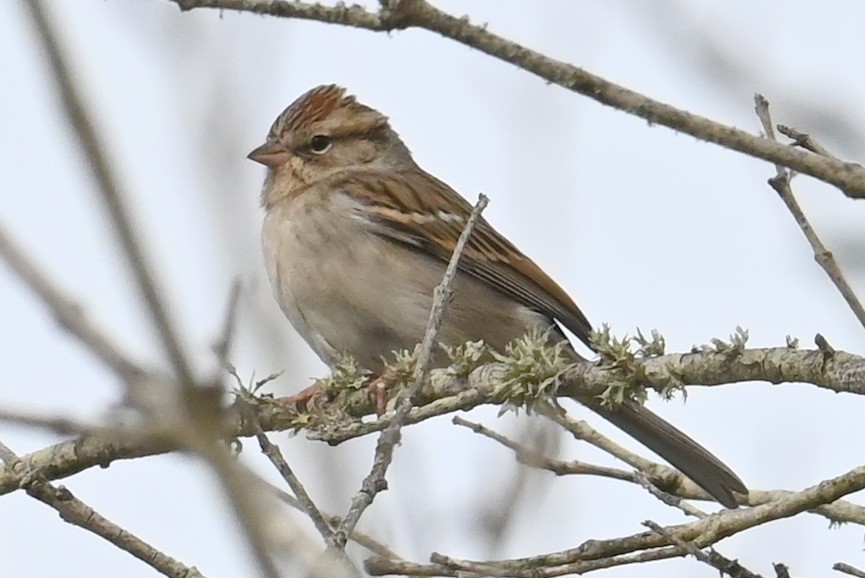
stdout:
<svg viewBox="0 0 865 578">
<path fill-rule="evenodd" d="M 48 55 L 63 110 L 78 137 L 78 144 L 81 145 L 86 164 L 96 179 L 100 196 L 111 217 L 115 232 L 120 238 L 120 244 L 138 282 L 141 296 L 150 311 L 163 349 L 180 383 L 192 383 L 189 361 L 177 337 L 178 333 L 168 307 L 163 302 L 162 292 L 153 277 L 153 269 L 145 256 L 141 237 L 132 224 L 124 202 L 124 194 L 114 175 L 113 163 L 109 160 L 105 145 L 97 134 L 87 106 L 79 94 L 76 81 L 70 74 L 69 66 L 57 41 L 57 34 L 45 13 L 42 0 L 22 0 L 21 3 L 30 13 L 33 28 Z"/>
</svg>

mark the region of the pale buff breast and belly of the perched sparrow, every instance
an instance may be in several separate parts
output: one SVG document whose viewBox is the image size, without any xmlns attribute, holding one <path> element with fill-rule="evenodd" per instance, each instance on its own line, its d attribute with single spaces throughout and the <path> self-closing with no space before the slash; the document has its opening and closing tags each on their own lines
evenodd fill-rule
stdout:
<svg viewBox="0 0 865 578">
<path fill-rule="evenodd" d="M 334 197 L 269 211 L 262 243 L 271 288 L 325 363 L 348 353 L 377 370 L 383 357 L 423 339 L 446 264 L 376 235 L 352 216 L 350 201 Z M 502 349 L 528 327 L 551 323 L 466 275 L 454 289 L 439 333 L 448 345 L 484 339 Z"/>
</svg>

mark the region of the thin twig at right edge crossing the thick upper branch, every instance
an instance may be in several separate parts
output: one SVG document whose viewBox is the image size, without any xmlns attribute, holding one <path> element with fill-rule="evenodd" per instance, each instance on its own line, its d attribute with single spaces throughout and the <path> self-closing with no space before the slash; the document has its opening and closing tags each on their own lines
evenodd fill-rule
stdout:
<svg viewBox="0 0 865 578">
<path fill-rule="evenodd" d="M 762 95 L 756 94 L 754 95 L 754 105 L 757 117 L 760 119 L 760 123 L 763 125 L 763 130 L 766 132 L 766 137 L 775 140 L 775 132 L 772 128 L 772 119 L 769 115 L 769 101 Z M 844 273 L 841 272 L 841 268 L 838 267 L 838 263 L 835 262 L 835 257 L 832 255 L 832 252 L 826 248 L 820 240 L 820 237 L 817 236 L 811 223 L 808 222 L 805 212 L 802 210 L 802 207 L 799 206 L 799 202 L 793 194 L 793 189 L 790 187 L 790 171 L 780 164 L 775 165 L 775 171 L 776 175 L 769 179 L 769 185 L 775 189 L 781 197 L 781 200 L 784 201 L 790 214 L 793 215 L 796 224 L 799 225 L 802 233 L 805 234 L 805 238 L 808 240 L 811 249 L 814 251 L 814 260 L 823 268 L 829 276 L 829 279 L 835 287 L 838 288 L 838 291 L 841 292 L 841 296 L 853 311 L 856 319 L 859 320 L 859 324 L 862 325 L 862 327 L 865 327 L 865 307 L 862 306 L 862 303 L 856 296 L 856 292 L 853 291 L 853 288 L 847 282 Z"/>
</svg>

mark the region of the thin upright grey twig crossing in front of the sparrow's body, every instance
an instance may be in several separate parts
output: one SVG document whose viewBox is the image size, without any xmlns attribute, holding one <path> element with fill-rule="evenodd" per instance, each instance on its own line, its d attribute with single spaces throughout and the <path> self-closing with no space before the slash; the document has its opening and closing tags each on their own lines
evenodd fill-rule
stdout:
<svg viewBox="0 0 865 578">
<path fill-rule="evenodd" d="M 387 470 L 393 460 L 394 448 L 399 444 L 401 436 L 401 428 L 408 418 L 409 413 L 414 405 L 414 400 L 417 398 L 427 378 L 429 372 L 429 363 L 432 355 L 432 348 L 435 344 L 435 339 L 441 326 L 442 315 L 444 314 L 447 302 L 451 295 L 451 284 L 457 273 L 460 257 L 465 250 L 466 243 L 474 230 L 475 223 L 480 218 L 481 212 L 489 204 L 489 199 L 486 195 L 479 195 L 478 202 L 472 211 L 471 216 L 466 221 L 459 241 L 457 241 L 454 252 L 451 255 L 450 262 L 445 270 L 442 282 L 435 288 L 432 310 L 430 311 L 429 319 L 427 320 L 426 331 L 423 341 L 421 342 L 420 353 L 418 355 L 417 365 L 415 366 L 413 383 L 409 390 L 409 394 L 397 405 L 393 419 L 390 424 L 382 431 L 378 438 L 375 448 L 375 456 L 373 458 L 372 469 L 369 475 L 363 480 L 360 491 L 355 494 L 351 500 L 351 506 L 348 513 L 342 520 L 337 529 L 335 542 L 338 548 L 345 547 L 345 542 L 352 530 L 357 526 L 361 515 L 372 504 L 375 496 L 382 490 L 387 488 Z"/>
</svg>

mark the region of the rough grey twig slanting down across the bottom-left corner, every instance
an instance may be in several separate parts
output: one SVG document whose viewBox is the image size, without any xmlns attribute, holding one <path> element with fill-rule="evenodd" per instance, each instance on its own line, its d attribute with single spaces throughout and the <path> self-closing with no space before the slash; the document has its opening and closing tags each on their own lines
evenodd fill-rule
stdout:
<svg viewBox="0 0 865 578">
<path fill-rule="evenodd" d="M 0 459 L 7 468 L 11 469 L 15 469 L 19 463 L 18 456 L 2 442 L 0 442 Z M 186 566 L 171 556 L 163 554 L 131 532 L 104 518 L 63 486 L 55 487 L 37 474 L 27 481 L 24 490 L 31 497 L 57 510 L 64 521 L 104 538 L 165 576 L 204 578 L 204 575 L 194 566 Z"/>
</svg>

